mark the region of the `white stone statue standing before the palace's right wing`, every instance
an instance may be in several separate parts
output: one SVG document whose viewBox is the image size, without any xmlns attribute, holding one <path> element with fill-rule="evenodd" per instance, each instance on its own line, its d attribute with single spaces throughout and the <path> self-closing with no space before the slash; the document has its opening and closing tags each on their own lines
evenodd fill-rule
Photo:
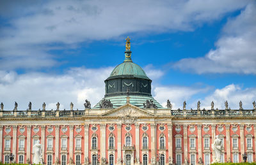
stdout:
<svg viewBox="0 0 256 165">
<path fill-rule="evenodd" d="M 214 143 L 212 144 L 212 154 L 213 154 L 213 162 L 220 162 L 220 157 L 221 157 L 221 150 L 223 148 L 223 144 L 219 136 L 216 136 L 216 140 L 214 140 Z"/>
</svg>

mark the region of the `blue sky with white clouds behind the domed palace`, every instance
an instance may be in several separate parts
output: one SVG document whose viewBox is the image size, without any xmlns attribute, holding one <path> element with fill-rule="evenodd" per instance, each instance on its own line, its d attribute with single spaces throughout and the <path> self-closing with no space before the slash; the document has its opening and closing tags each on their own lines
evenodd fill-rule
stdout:
<svg viewBox="0 0 256 165">
<path fill-rule="evenodd" d="M 104 80 L 132 60 L 152 94 L 174 108 L 252 108 L 256 100 L 256 3 L 190 1 L 0 1 L 0 102 L 5 110 L 83 109 Z"/>
</svg>

